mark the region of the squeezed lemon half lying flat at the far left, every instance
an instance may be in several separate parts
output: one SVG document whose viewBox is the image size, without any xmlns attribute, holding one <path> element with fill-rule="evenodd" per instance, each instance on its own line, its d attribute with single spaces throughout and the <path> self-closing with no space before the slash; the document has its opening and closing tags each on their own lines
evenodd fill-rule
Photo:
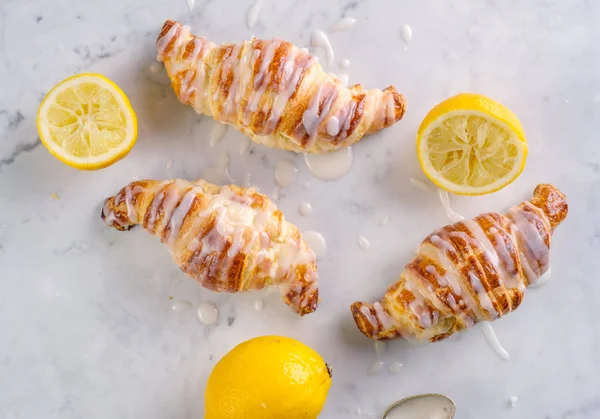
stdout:
<svg viewBox="0 0 600 419">
<path fill-rule="evenodd" d="M 129 99 L 101 74 L 78 74 L 50 90 L 37 114 L 40 140 L 69 166 L 96 170 L 129 153 L 137 118 Z"/>
</svg>

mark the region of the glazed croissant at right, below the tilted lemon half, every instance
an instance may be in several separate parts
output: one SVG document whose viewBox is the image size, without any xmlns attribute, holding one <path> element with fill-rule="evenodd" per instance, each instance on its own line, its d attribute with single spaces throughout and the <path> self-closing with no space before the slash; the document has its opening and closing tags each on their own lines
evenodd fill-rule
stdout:
<svg viewBox="0 0 600 419">
<path fill-rule="evenodd" d="M 435 342 L 515 310 L 525 288 L 546 272 L 565 196 L 538 185 L 506 215 L 487 213 L 427 237 L 381 303 L 356 302 L 360 331 L 372 339 Z"/>
</svg>

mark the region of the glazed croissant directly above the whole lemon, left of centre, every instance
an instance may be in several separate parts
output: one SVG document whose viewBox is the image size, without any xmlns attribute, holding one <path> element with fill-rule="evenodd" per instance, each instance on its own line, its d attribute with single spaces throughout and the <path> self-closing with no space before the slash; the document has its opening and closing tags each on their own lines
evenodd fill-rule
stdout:
<svg viewBox="0 0 600 419">
<path fill-rule="evenodd" d="M 167 244 L 183 272 L 208 289 L 276 285 L 300 315 L 317 308 L 314 253 L 298 228 L 254 188 L 141 180 L 106 199 L 102 219 L 117 230 L 142 225 Z"/>
</svg>

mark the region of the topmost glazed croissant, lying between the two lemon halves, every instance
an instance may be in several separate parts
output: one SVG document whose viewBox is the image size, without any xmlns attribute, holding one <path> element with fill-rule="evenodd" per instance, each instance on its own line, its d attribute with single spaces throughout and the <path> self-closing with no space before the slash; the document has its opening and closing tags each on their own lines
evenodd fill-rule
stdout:
<svg viewBox="0 0 600 419">
<path fill-rule="evenodd" d="M 308 50 L 280 39 L 217 46 L 167 20 L 156 48 L 180 102 L 269 147 L 332 151 L 404 115 L 393 87 L 347 88 Z"/>
</svg>

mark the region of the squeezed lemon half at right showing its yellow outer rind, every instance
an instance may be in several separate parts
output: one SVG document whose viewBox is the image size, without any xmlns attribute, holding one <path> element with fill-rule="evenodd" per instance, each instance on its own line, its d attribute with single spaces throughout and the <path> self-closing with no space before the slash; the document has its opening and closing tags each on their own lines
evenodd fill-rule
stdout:
<svg viewBox="0 0 600 419">
<path fill-rule="evenodd" d="M 483 195 L 521 174 L 527 141 L 512 111 L 485 96 L 461 93 L 423 119 L 417 156 L 425 175 L 438 187 L 460 195 Z"/>
</svg>

